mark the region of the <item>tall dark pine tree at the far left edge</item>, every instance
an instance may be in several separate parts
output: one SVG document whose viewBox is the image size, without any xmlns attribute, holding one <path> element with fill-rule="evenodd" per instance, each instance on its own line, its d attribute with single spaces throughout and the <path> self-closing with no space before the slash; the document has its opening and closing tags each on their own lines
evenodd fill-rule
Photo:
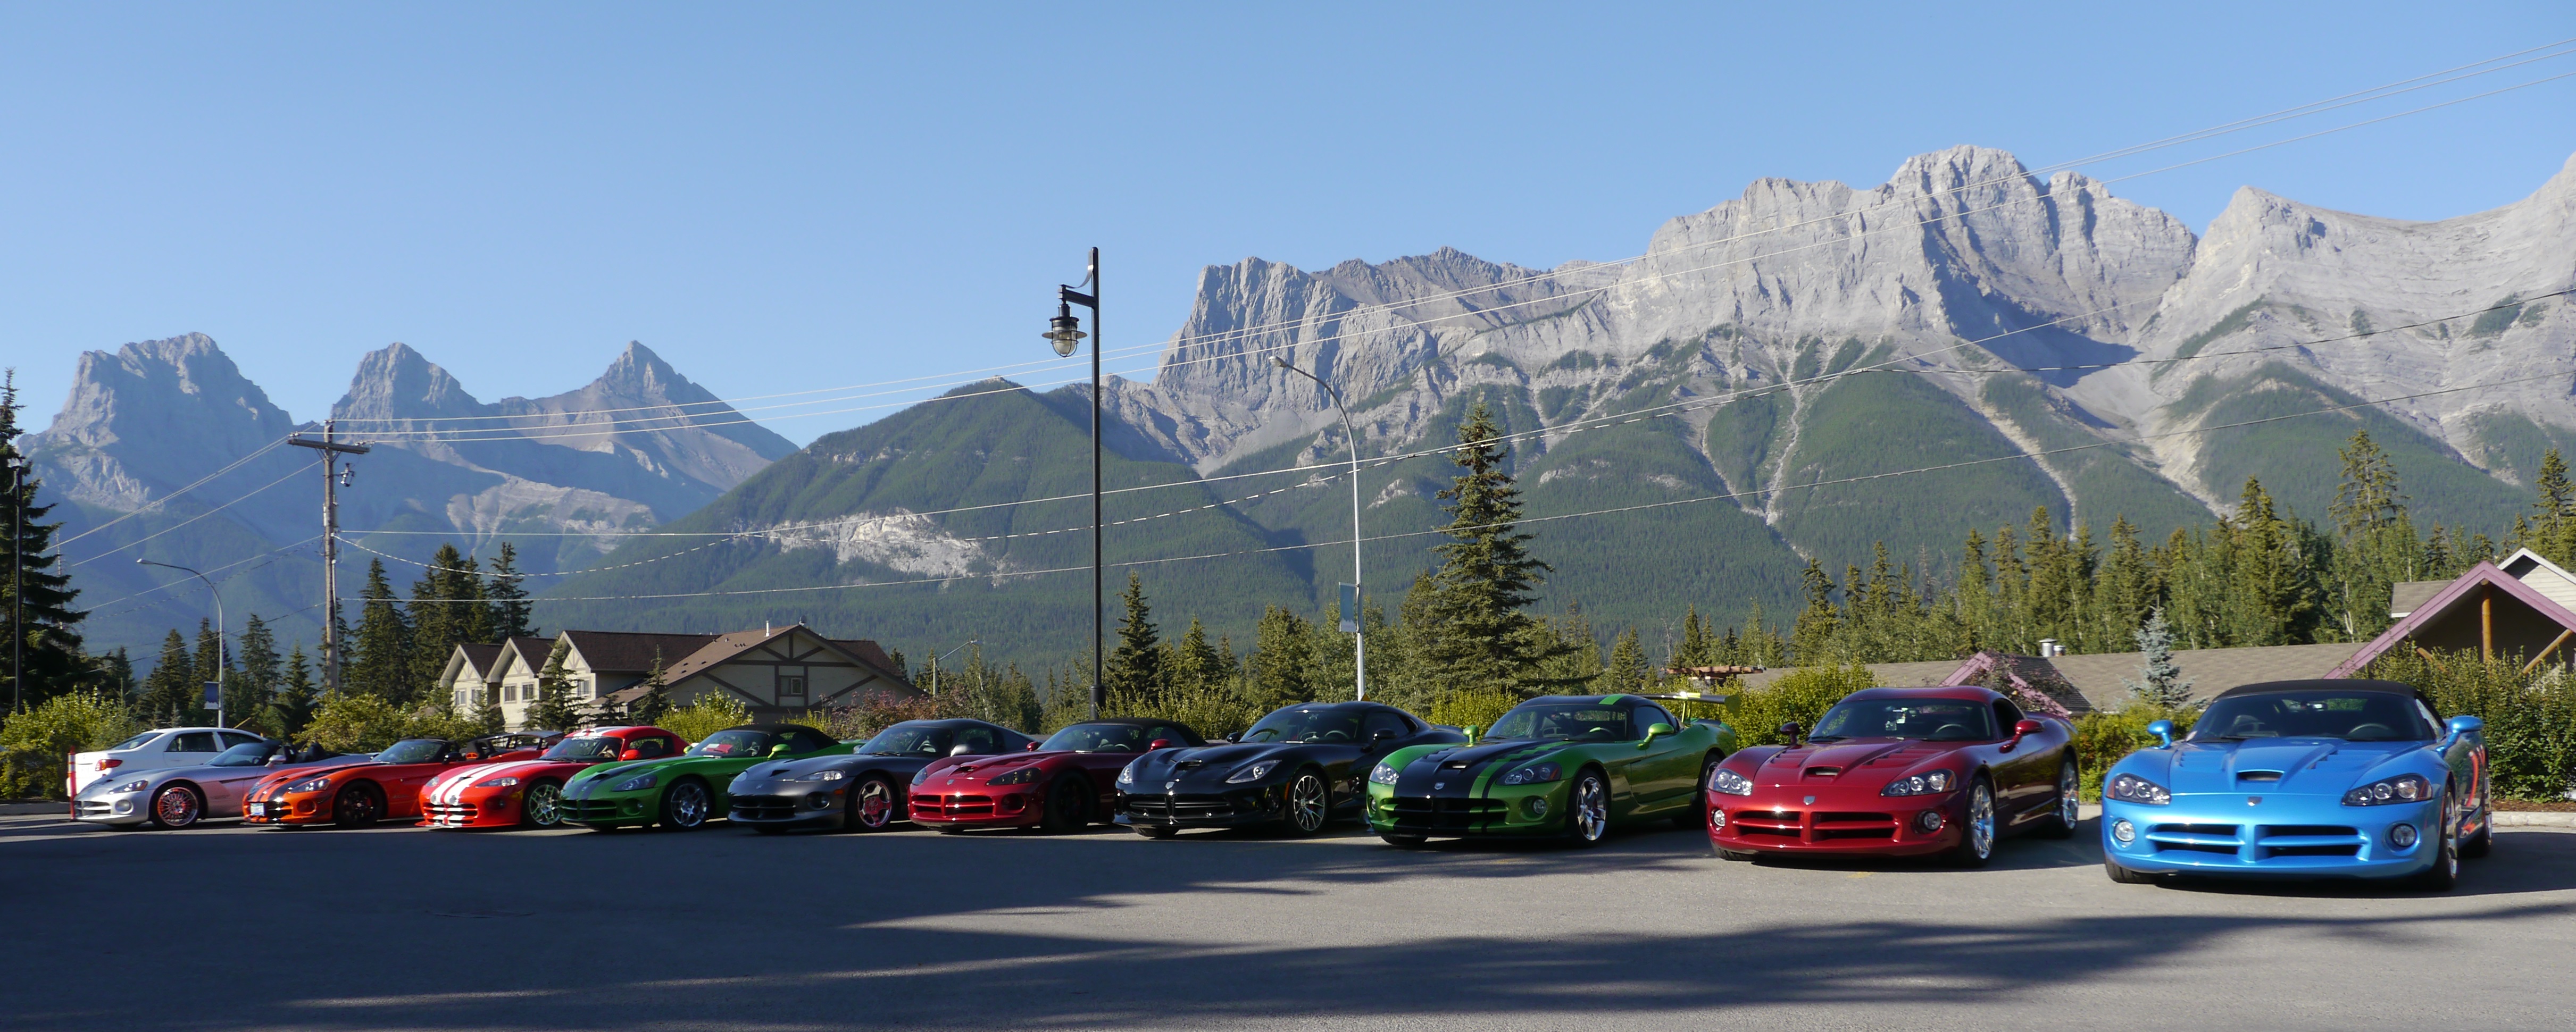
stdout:
<svg viewBox="0 0 2576 1032">
<path fill-rule="evenodd" d="M 18 458 L 18 371 L 0 371 L 0 461 L 5 458 Z M 0 566 L 15 556 L 21 587 L 21 597 L 10 605 L 10 582 L 0 569 L 0 631 L 8 633 L 0 646 L 23 643 L 23 682 L 10 685 L 10 697 L 0 697 L 0 708 L 21 703 L 33 708 L 70 692 L 90 674 L 90 661 L 80 649 L 85 613 L 72 607 L 80 589 L 72 587 L 70 571 L 57 571 L 62 556 L 54 551 L 54 533 L 62 530 L 62 522 L 44 520 L 54 507 L 36 504 L 41 484 L 33 471 L 23 486 L 0 479 L 0 528 L 10 522 L 18 528 L 15 538 L 0 538 Z M 23 620 L 23 625 L 10 620 Z"/>
</svg>

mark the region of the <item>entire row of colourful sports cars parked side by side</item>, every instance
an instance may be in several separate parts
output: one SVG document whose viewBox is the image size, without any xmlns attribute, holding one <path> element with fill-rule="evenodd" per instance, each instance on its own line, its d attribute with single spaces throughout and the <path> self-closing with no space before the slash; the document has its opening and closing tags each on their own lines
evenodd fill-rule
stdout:
<svg viewBox="0 0 2576 1032">
<path fill-rule="evenodd" d="M 752 723 L 706 741 L 652 726 L 399 741 L 379 754 L 299 751 L 219 728 L 147 731 L 75 757 L 75 816 L 183 829 L 214 816 L 273 826 L 433 829 L 580 824 L 765 834 L 878 831 L 912 821 L 1069 831 L 1123 824 L 1275 826 L 1360 818 L 1396 847 L 1435 836 L 1556 836 L 1618 826 L 1705 829 L 1726 860 L 1940 854 L 1984 865 L 2012 834 L 2076 831 L 2074 728 L 1984 687 L 1873 687 L 1785 746 L 1736 749 L 1721 721 L 1674 718 L 1700 695 L 1548 695 L 1492 728 L 1448 728 L 1381 703 L 1303 703 L 1231 741 L 1172 721 L 1087 721 L 1038 741 L 984 721 L 907 721 L 868 741 Z M 2494 836 L 2478 718 L 2442 721 L 2409 685 L 2269 682 L 2210 700 L 2187 739 L 2105 772 L 2102 862 L 2156 875 L 2409 878 L 2450 888 Z M 240 736 L 206 759 L 209 733 Z M 170 757 L 196 757 L 183 762 Z M 82 777 L 88 775 L 88 777 Z"/>
</svg>

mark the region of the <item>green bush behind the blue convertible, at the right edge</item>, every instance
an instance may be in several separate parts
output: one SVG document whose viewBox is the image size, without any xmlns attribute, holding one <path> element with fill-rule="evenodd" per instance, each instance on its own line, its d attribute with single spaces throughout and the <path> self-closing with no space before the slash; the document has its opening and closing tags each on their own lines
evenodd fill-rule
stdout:
<svg viewBox="0 0 2576 1032">
<path fill-rule="evenodd" d="M 2476 651 L 2391 651 L 2365 677 L 2414 685 L 2434 713 L 2486 721 L 2496 795 L 2558 800 L 2576 785 L 2576 682 L 2561 669 L 2524 674 L 2509 656 Z"/>
</svg>

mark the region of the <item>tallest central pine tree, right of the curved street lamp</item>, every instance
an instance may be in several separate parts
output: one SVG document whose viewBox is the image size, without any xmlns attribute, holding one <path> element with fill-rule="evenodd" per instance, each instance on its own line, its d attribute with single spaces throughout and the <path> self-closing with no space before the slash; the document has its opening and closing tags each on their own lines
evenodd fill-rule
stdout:
<svg viewBox="0 0 2576 1032">
<path fill-rule="evenodd" d="M 1564 646 L 1522 613 L 1548 564 L 1530 556 L 1535 535 L 1517 530 L 1520 484 L 1504 468 L 1510 450 L 1484 401 L 1458 427 L 1450 463 L 1458 476 L 1440 492 L 1450 515 L 1450 540 L 1435 546 L 1427 641 L 1419 643 L 1430 677 L 1448 692 L 1515 690 L 1543 685 L 1533 674 Z"/>
</svg>

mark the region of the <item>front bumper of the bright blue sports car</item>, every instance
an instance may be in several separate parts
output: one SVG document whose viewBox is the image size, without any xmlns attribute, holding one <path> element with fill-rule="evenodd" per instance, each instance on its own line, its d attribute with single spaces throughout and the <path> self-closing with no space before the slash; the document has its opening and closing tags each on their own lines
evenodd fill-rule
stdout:
<svg viewBox="0 0 2576 1032">
<path fill-rule="evenodd" d="M 2409 847 L 2396 844 L 2401 824 L 2414 829 Z M 2102 857 L 2143 875 L 2403 878 L 2432 867 L 2439 834 L 2442 800 L 2200 793 L 2169 806 L 2102 803 Z"/>
</svg>

